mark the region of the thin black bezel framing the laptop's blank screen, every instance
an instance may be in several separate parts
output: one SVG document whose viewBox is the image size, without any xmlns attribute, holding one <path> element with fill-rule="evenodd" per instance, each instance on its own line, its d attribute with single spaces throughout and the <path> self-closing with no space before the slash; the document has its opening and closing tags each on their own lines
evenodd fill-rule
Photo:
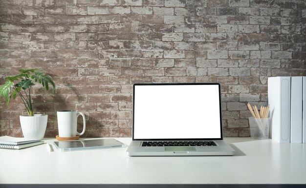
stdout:
<svg viewBox="0 0 306 188">
<path fill-rule="evenodd" d="M 183 139 L 135 139 L 134 138 L 134 101 L 135 101 L 135 86 L 137 85 L 218 85 L 219 87 L 219 113 L 220 113 L 220 138 L 183 138 Z M 222 129 L 222 109 L 221 109 L 221 85 L 219 83 L 137 83 L 133 84 L 133 99 L 132 99 L 132 140 L 134 141 L 174 141 L 174 140 L 223 140 Z"/>
</svg>

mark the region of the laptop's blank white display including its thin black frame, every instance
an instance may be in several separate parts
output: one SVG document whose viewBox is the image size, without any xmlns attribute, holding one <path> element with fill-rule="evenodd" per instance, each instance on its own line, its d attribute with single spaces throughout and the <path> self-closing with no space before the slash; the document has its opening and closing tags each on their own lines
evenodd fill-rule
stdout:
<svg viewBox="0 0 306 188">
<path fill-rule="evenodd" d="M 221 139 L 219 84 L 134 84 L 133 139 Z"/>
</svg>

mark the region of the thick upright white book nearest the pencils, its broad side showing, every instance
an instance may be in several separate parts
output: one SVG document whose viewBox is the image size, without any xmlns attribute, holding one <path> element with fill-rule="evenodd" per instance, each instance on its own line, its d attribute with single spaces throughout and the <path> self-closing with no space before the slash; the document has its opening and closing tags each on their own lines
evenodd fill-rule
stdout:
<svg viewBox="0 0 306 188">
<path fill-rule="evenodd" d="M 271 118 L 271 138 L 290 143 L 291 77 L 268 78 L 268 104 Z"/>
</svg>

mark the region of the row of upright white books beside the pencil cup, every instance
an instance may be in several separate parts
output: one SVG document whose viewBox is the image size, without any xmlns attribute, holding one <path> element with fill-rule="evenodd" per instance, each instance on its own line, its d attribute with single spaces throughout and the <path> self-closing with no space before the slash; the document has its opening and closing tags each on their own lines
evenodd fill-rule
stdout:
<svg viewBox="0 0 306 188">
<path fill-rule="evenodd" d="M 269 77 L 271 138 L 279 143 L 306 143 L 306 77 Z"/>
</svg>

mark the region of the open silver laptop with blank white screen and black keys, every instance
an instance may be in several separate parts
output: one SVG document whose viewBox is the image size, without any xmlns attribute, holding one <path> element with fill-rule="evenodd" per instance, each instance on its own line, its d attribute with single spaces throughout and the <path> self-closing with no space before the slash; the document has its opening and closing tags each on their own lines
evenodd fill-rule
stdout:
<svg viewBox="0 0 306 188">
<path fill-rule="evenodd" d="M 223 141 L 219 83 L 133 84 L 129 156 L 234 155 Z"/>
</svg>

